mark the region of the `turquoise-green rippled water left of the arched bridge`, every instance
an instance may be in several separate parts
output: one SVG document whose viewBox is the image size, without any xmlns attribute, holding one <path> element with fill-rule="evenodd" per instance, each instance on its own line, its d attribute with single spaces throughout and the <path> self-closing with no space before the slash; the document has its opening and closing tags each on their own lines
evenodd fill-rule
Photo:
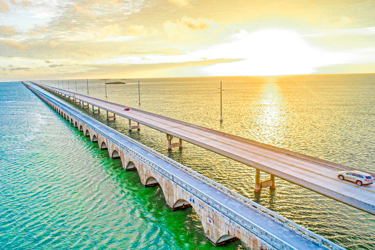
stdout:
<svg viewBox="0 0 375 250">
<path fill-rule="evenodd" d="M 215 249 L 191 208 L 172 212 L 22 84 L 0 87 L 1 250 Z"/>
</svg>

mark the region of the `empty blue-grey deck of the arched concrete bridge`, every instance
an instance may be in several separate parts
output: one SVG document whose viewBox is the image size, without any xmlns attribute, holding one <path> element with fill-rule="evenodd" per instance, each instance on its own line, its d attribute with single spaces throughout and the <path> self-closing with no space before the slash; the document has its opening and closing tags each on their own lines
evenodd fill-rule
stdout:
<svg viewBox="0 0 375 250">
<path fill-rule="evenodd" d="M 35 87 L 33 86 L 30 86 L 30 88 L 34 92 L 39 92 L 39 94 L 42 93 L 39 90 L 35 89 Z M 42 95 L 47 97 L 47 95 L 44 93 L 42 93 Z M 219 205 L 220 209 L 222 210 L 224 209 L 224 211 L 226 211 L 224 212 L 224 216 L 229 216 L 229 219 L 237 218 L 234 220 L 238 220 L 240 222 L 242 221 L 242 225 L 245 228 L 247 227 L 246 224 L 249 225 L 248 222 L 250 222 L 250 224 L 256 225 L 258 229 L 261 229 L 267 232 L 268 236 L 270 236 L 270 239 L 263 239 L 265 242 L 268 242 L 271 240 L 271 245 L 273 245 L 272 244 L 273 239 L 274 237 L 276 237 L 277 239 L 284 242 L 283 244 L 286 244 L 284 245 L 284 247 L 280 246 L 280 248 L 283 248 L 283 249 L 327 250 L 327 248 L 318 246 L 312 240 L 306 239 L 306 236 L 303 236 L 301 233 L 297 233 L 296 230 L 301 229 L 305 233 L 315 236 L 315 238 L 317 239 L 321 238 L 318 235 L 297 226 L 296 224 L 292 223 L 291 221 L 277 214 L 273 213 L 274 217 L 271 218 L 265 215 L 264 213 L 257 211 L 256 209 L 254 210 L 254 208 L 251 208 L 251 206 L 245 206 L 239 201 L 239 199 L 237 199 L 237 197 L 231 198 L 228 194 L 224 193 L 223 190 L 220 191 L 216 189 L 218 186 L 221 186 L 221 185 L 214 183 L 213 181 L 206 178 L 206 180 L 209 180 L 210 182 L 212 182 L 214 184 L 214 187 L 216 188 L 214 188 L 213 186 L 209 186 L 207 184 L 208 182 L 203 182 L 202 179 L 197 178 L 196 175 L 198 175 L 199 177 L 198 173 L 194 173 L 194 171 L 192 171 L 193 174 L 188 174 L 188 172 L 181 169 L 181 167 L 176 167 L 177 163 L 157 153 L 156 151 L 154 151 L 154 153 L 150 153 L 153 151 L 152 149 L 149 149 L 146 146 L 143 146 L 139 143 L 137 144 L 137 142 L 135 142 L 134 140 L 126 137 L 123 134 L 120 134 L 119 132 L 115 131 L 114 129 L 104 124 L 101 124 L 95 121 L 94 119 L 82 114 L 81 112 L 69 107 L 68 105 L 55 100 L 53 97 L 49 97 L 49 100 L 59 105 L 60 107 L 62 107 L 62 109 L 68 111 L 69 113 L 71 113 L 72 115 L 74 115 L 75 117 L 83 121 L 85 124 L 97 128 L 104 134 L 113 138 L 115 141 L 118 141 L 124 146 L 134 150 L 135 152 L 142 155 L 144 158 L 146 158 L 150 162 L 154 163 L 158 167 L 167 171 L 167 173 L 170 173 L 173 176 L 173 178 L 171 178 L 171 181 L 176 181 L 176 178 L 181 180 L 183 185 L 188 186 L 188 188 L 184 187 L 186 188 L 187 192 L 199 193 L 201 195 L 204 195 L 204 197 L 208 197 L 208 202 L 212 203 L 211 205 L 213 205 L 214 207 L 217 207 L 217 205 Z M 169 162 L 166 161 L 165 159 L 168 159 Z M 173 164 L 173 162 L 175 164 Z M 224 188 L 224 187 L 221 187 L 221 188 Z M 238 197 L 246 199 L 240 195 L 238 195 Z M 262 209 L 262 210 L 271 212 L 267 208 L 264 208 L 256 203 L 253 203 L 251 201 L 249 202 L 253 204 L 253 206 L 256 206 L 258 210 Z M 236 214 L 237 217 L 230 217 L 230 215 L 233 213 Z M 277 219 L 279 219 L 279 221 Z M 282 223 L 280 223 L 280 219 L 283 220 Z M 290 228 L 288 229 L 286 227 L 286 224 L 292 224 L 292 226 L 294 226 L 295 229 L 294 230 Z M 332 249 L 344 250 L 343 248 L 337 246 L 336 244 L 333 244 L 332 242 L 327 241 L 326 239 L 324 239 L 324 242 L 332 244 L 331 245 Z M 278 247 L 276 247 L 276 249 L 278 249 Z"/>
</svg>

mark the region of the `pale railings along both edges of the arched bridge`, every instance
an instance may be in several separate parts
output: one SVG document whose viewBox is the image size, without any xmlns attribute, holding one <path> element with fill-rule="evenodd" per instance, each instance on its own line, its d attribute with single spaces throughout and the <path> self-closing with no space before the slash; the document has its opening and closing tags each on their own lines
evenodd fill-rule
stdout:
<svg viewBox="0 0 375 250">
<path fill-rule="evenodd" d="M 34 89 L 34 88 L 33 88 Z M 34 89 L 35 91 L 39 92 L 38 90 Z M 42 94 L 41 92 L 39 92 L 40 94 Z M 50 101 L 54 102 L 56 105 L 60 106 L 61 108 L 63 109 L 70 109 L 74 112 L 78 112 L 76 110 L 74 110 L 73 108 L 69 107 L 69 106 L 66 106 L 65 104 L 62 104 L 54 99 L 51 99 L 50 97 L 42 94 L 45 98 L 48 98 Z M 72 112 L 70 112 L 71 115 L 73 115 L 76 119 L 78 120 L 81 120 L 82 122 L 86 123 L 87 124 L 87 121 L 83 121 L 80 117 L 78 117 L 77 115 L 74 115 Z M 184 165 L 168 158 L 167 156 L 131 139 L 130 137 L 127 137 L 125 136 L 124 134 L 118 132 L 117 130 L 107 126 L 107 125 L 104 125 L 98 121 L 96 121 L 95 119 L 92 119 L 91 117 L 87 116 L 87 115 L 84 115 L 82 113 L 79 113 L 81 116 L 83 116 L 85 119 L 88 119 L 90 122 L 92 123 L 95 123 L 97 125 L 100 125 L 100 126 L 103 126 L 105 127 L 107 130 L 109 130 L 110 132 L 124 138 L 125 140 L 131 142 L 132 144 L 135 144 L 137 145 L 138 147 L 142 148 L 143 150 L 157 156 L 158 158 L 168 162 L 169 164 L 175 166 L 175 167 L 178 167 L 179 169 L 183 170 L 185 173 L 189 174 L 190 176 L 204 182 L 205 184 L 207 184 L 208 186 L 210 187 L 213 187 L 214 189 L 222 192 L 223 194 L 229 196 L 230 198 L 236 200 L 237 202 L 240 202 L 241 204 L 247 206 L 248 208 L 251 208 L 252 210 L 255 210 L 257 211 L 258 213 L 260 214 L 263 214 L 264 216 L 267 216 L 269 219 L 271 219 L 272 221 L 282 225 L 284 228 L 287 228 L 291 231 L 294 231 L 295 233 L 297 233 L 298 235 L 308 239 L 309 241 L 312 241 L 313 243 L 317 244 L 318 246 L 320 247 L 323 247 L 325 249 L 328 249 L 328 250 L 345 250 L 344 248 L 338 246 L 337 244 L 333 243 L 332 241 L 330 240 L 327 240 L 325 239 L 324 237 L 308 230 L 308 229 L 305 229 L 301 226 L 299 226 L 298 224 L 292 222 L 291 220 L 271 211 L 270 209 L 268 208 L 265 208 L 253 201 L 251 201 L 250 199 L 230 190 L 228 187 L 225 187 L 221 184 L 218 184 L 216 183 L 215 181 L 212 181 L 211 179 L 207 178 L 206 176 L 188 168 L 188 167 L 185 167 Z M 168 172 L 167 170 L 165 170 L 164 168 L 160 167 L 159 165 L 155 164 L 154 162 L 146 159 L 145 157 L 143 157 L 141 154 L 137 153 L 136 151 L 134 151 L 133 149 L 129 148 L 128 146 L 126 146 L 125 144 L 113 139 L 113 137 L 107 135 L 106 133 L 104 133 L 102 130 L 99 130 L 97 129 L 95 126 L 92 126 L 91 127 L 92 129 L 94 129 L 96 132 L 100 133 L 102 136 L 106 137 L 107 139 L 109 139 L 110 141 L 112 141 L 113 143 L 115 144 L 120 144 L 119 146 L 123 147 L 126 149 L 126 151 L 128 151 L 129 153 L 135 155 L 138 159 L 141 159 L 142 161 L 144 161 L 147 165 L 153 167 L 154 169 L 156 169 L 157 171 L 163 173 L 163 175 L 165 175 L 167 178 L 173 180 L 174 182 L 176 182 L 177 184 L 179 184 L 181 187 L 184 187 L 185 189 L 187 189 L 189 192 L 193 193 L 194 195 L 196 195 L 197 197 L 199 197 L 200 199 L 204 200 L 205 202 L 209 203 L 212 207 L 214 208 L 217 208 L 217 209 L 220 209 L 220 210 L 224 210 L 226 211 L 226 214 L 227 216 L 229 216 L 231 219 L 233 219 L 234 221 L 236 221 L 237 223 L 240 222 L 239 224 L 244 226 L 245 228 L 249 229 L 250 231 L 252 231 L 255 235 L 257 235 L 258 237 L 260 238 L 266 238 L 268 240 L 268 242 L 273 242 L 275 243 L 276 246 L 279 246 L 279 247 L 282 247 L 282 249 L 294 249 L 292 246 L 290 246 L 288 243 L 284 242 L 284 241 L 281 241 L 279 238 L 277 238 L 276 236 L 274 236 L 273 234 L 271 234 L 270 232 L 260 228 L 259 226 L 253 224 L 252 222 L 250 222 L 248 219 L 244 218 L 243 216 L 241 216 L 240 214 L 236 213 L 235 211 L 231 210 L 230 208 L 228 208 L 227 206 L 217 202 L 216 200 L 214 200 L 212 197 L 209 197 L 208 195 L 206 194 L 203 194 L 200 190 L 198 190 L 197 188 L 195 187 L 192 187 L 191 185 L 187 184 L 186 182 L 184 182 L 183 180 L 181 180 L 180 178 L 176 178 L 175 175 L 171 174 L 170 172 Z M 177 180 L 176 180 L 177 179 Z"/>
</svg>

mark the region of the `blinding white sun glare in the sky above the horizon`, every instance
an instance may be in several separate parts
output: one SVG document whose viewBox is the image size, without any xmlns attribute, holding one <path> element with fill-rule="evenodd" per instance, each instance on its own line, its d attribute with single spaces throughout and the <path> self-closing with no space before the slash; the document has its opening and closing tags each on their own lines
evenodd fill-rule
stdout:
<svg viewBox="0 0 375 250">
<path fill-rule="evenodd" d="M 208 53 L 216 58 L 243 59 L 208 66 L 206 70 L 211 75 L 311 74 L 319 66 L 343 62 L 343 55 L 312 47 L 297 33 L 281 29 L 250 33 Z"/>
</svg>

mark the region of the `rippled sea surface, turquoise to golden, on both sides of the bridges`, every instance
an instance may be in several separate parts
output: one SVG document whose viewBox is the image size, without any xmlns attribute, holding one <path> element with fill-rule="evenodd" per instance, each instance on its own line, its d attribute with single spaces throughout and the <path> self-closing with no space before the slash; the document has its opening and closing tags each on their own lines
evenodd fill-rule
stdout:
<svg viewBox="0 0 375 250">
<path fill-rule="evenodd" d="M 375 172 L 375 74 L 139 80 L 141 105 L 138 79 L 106 85 L 106 100 Z M 86 80 L 43 83 L 75 92 L 76 81 L 87 95 Z M 104 81 L 88 87 L 105 99 Z M 254 195 L 249 166 L 186 142 L 168 152 L 161 132 L 80 110 L 349 250 L 375 249 L 373 215 L 278 178 Z M 0 83 L 0 136 L 1 250 L 246 249 L 213 247 L 194 210 L 172 212 L 160 187 L 143 187 L 21 83 Z"/>
</svg>

